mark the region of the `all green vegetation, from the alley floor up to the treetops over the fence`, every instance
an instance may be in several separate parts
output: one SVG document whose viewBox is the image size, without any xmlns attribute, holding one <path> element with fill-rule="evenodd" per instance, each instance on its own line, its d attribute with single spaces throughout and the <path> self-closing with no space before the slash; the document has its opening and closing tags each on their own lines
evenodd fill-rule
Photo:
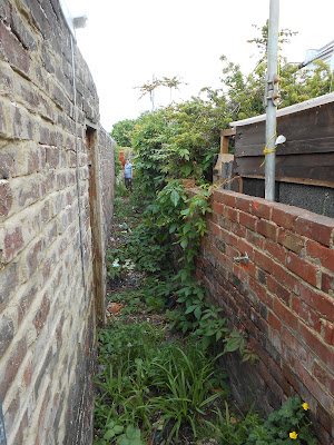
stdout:
<svg viewBox="0 0 334 445">
<path fill-rule="evenodd" d="M 266 32 L 264 27 L 253 39 L 264 52 Z M 282 36 L 283 41 L 291 33 Z M 240 359 L 255 364 L 258 356 L 245 332 L 228 330 L 222 309 L 195 277 L 210 212 L 209 179 L 219 130 L 264 112 L 263 55 L 249 76 L 224 57 L 222 61 L 225 89 L 204 88 L 187 102 L 119 122 L 114 129 L 119 145 L 131 139 L 135 192 L 128 197 L 118 186 L 119 239 L 108 251 L 108 274 L 121 283 L 136 270 L 145 279 L 140 287 L 112 297 L 131 322 L 117 318 L 98 334 L 96 445 L 183 444 L 200 438 L 229 445 L 316 444 L 307 404 L 298 396 L 267 419 L 253 408 L 244 415 L 234 406 L 218 359 L 238 352 Z M 330 72 L 318 63 L 311 78 L 284 65 L 281 86 L 279 106 L 288 106 L 327 92 Z M 198 186 L 196 194 L 183 186 L 181 178 L 189 177 Z M 160 327 L 143 323 L 143 314 L 153 313 L 161 315 Z"/>
</svg>

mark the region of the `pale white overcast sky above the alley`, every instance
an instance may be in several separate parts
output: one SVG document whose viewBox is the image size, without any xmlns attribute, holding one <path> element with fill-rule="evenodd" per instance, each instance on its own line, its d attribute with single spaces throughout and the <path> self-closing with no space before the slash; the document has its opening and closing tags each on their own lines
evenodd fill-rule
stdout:
<svg viewBox="0 0 334 445">
<path fill-rule="evenodd" d="M 97 86 L 100 120 L 107 131 L 122 119 L 150 110 L 139 89 L 153 77 L 179 77 L 187 85 L 173 100 L 187 100 L 204 87 L 222 88 L 220 56 L 250 72 L 269 0 L 66 0 L 72 16 L 86 13 L 76 38 Z M 333 0 L 281 0 L 279 28 L 298 31 L 283 48 L 289 62 L 305 59 L 334 39 Z M 156 106 L 166 106 L 169 90 L 159 87 Z"/>
</svg>

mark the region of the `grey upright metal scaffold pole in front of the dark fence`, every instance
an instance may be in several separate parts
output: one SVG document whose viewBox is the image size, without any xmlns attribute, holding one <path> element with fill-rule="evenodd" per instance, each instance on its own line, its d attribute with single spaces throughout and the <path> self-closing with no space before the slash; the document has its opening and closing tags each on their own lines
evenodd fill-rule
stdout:
<svg viewBox="0 0 334 445">
<path fill-rule="evenodd" d="M 274 97 L 277 85 L 277 53 L 278 53 L 278 17 L 279 0 L 271 0 L 269 29 L 268 29 L 268 67 L 266 97 L 266 148 L 275 147 L 276 140 L 276 102 Z M 265 162 L 265 198 L 275 200 L 275 152 L 266 154 Z"/>
</svg>

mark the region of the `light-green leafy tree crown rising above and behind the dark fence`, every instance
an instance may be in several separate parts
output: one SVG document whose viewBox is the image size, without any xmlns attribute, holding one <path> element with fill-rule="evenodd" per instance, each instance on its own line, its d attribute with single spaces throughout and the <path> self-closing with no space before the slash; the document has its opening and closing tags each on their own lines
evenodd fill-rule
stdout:
<svg viewBox="0 0 334 445">
<path fill-rule="evenodd" d="M 281 43 L 294 33 L 284 30 Z M 266 48 L 263 28 L 262 40 Z M 136 125 L 132 147 L 136 152 L 138 182 L 148 195 L 155 195 L 173 178 L 194 177 L 197 184 L 209 178 L 212 161 L 219 152 L 219 130 L 229 122 L 265 112 L 264 90 L 266 61 L 262 57 L 254 71 L 245 76 L 238 65 L 223 56 L 223 88 L 203 88 L 197 97 L 181 103 L 173 103 L 155 113 L 144 113 Z M 330 92 L 330 68 L 318 61 L 311 75 L 281 59 L 281 93 L 278 108 L 287 107 Z M 171 87 L 173 79 L 165 79 Z M 159 82 L 159 86 L 163 85 Z M 170 81 L 170 83 L 169 83 Z M 178 83 L 176 82 L 176 86 Z M 148 196 L 147 195 L 147 196 Z"/>
</svg>

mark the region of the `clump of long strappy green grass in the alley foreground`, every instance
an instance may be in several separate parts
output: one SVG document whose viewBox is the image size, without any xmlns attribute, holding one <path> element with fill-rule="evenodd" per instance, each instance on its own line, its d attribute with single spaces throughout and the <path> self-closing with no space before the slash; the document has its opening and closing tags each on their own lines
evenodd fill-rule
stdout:
<svg viewBox="0 0 334 445">
<path fill-rule="evenodd" d="M 129 427 L 141 432 L 134 433 L 137 442 L 160 427 L 168 444 L 177 443 L 185 424 L 196 437 L 206 409 L 227 393 L 214 392 L 217 357 L 195 343 L 168 344 L 164 330 L 148 323 L 112 324 L 99 330 L 98 343 L 96 445 L 122 443 Z"/>
</svg>

